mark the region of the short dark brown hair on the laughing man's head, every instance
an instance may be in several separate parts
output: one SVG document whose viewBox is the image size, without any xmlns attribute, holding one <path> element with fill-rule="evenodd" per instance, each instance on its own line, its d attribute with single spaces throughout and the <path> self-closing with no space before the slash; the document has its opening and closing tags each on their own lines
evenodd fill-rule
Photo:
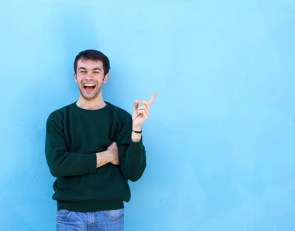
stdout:
<svg viewBox="0 0 295 231">
<path fill-rule="evenodd" d="M 100 51 L 96 51 L 96 50 L 85 50 L 80 52 L 74 61 L 74 71 L 77 74 L 77 62 L 78 60 L 94 60 L 94 61 L 102 61 L 103 64 L 103 71 L 104 71 L 104 75 L 109 73 L 109 70 L 111 69 L 110 67 L 110 60 L 108 57 L 106 57 L 103 53 L 101 53 Z"/>
</svg>

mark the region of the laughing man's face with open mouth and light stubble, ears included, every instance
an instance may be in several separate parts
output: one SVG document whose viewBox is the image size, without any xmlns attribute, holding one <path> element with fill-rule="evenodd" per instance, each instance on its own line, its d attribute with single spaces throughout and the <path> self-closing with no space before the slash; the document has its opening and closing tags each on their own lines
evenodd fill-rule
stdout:
<svg viewBox="0 0 295 231">
<path fill-rule="evenodd" d="M 91 100 L 100 94 L 102 85 L 109 78 L 109 73 L 104 78 L 102 61 L 84 59 L 78 60 L 77 75 L 74 73 L 74 77 L 82 97 Z"/>
</svg>

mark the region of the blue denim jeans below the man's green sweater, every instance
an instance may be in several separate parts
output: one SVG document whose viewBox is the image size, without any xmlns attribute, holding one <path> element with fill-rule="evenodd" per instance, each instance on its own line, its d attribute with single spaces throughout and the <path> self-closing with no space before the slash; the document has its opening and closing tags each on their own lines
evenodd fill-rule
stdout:
<svg viewBox="0 0 295 231">
<path fill-rule="evenodd" d="M 57 231 L 123 231 L 124 209 L 98 212 L 57 211 Z"/>
</svg>

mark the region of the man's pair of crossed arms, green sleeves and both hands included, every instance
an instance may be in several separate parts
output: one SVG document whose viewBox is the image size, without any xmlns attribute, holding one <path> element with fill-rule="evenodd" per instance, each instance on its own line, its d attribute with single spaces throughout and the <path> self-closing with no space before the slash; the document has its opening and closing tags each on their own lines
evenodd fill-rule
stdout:
<svg viewBox="0 0 295 231">
<path fill-rule="evenodd" d="M 141 131 L 142 124 L 149 115 L 149 106 L 156 93 L 149 101 L 137 100 L 132 114 L 132 130 Z M 139 103 L 144 106 L 139 107 Z M 108 163 L 120 165 L 125 178 L 136 181 L 146 168 L 146 151 L 142 144 L 141 133 L 128 132 L 119 135 L 119 144 L 111 144 L 107 150 L 97 153 L 68 152 L 62 125 L 50 118 L 46 123 L 45 154 L 50 172 L 55 177 L 95 173 L 96 169 Z"/>
</svg>

